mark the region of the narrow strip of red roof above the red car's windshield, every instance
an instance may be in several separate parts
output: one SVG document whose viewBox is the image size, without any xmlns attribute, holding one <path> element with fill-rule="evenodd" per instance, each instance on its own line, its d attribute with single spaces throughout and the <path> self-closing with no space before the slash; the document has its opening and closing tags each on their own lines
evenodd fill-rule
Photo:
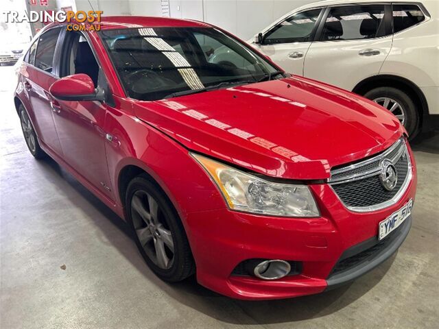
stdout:
<svg viewBox="0 0 439 329">
<path fill-rule="evenodd" d="M 207 23 L 189 19 L 170 19 L 148 16 L 102 16 L 101 29 L 126 29 L 134 27 L 211 27 Z"/>
</svg>

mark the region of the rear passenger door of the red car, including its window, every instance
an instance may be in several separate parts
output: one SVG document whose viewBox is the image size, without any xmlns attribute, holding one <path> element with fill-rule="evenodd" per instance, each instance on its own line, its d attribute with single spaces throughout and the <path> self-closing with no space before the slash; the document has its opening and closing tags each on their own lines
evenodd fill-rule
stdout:
<svg viewBox="0 0 439 329">
<path fill-rule="evenodd" d="M 23 77 L 38 138 L 58 156 L 62 156 L 62 149 L 52 115 L 49 87 L 58 79 L 54 56 L 60 30 L 60 27 L 49 29 L 34 42 L 29 51 L 27 74 Z"/>
</svg>

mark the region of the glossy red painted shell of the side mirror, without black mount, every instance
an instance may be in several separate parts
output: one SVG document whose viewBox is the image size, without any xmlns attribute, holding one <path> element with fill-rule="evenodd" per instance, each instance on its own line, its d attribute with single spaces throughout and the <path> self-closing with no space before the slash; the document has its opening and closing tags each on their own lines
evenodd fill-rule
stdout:
<svg viewBox="0 0 439 329">
<path fill-rule="evenodd" d="M 92 95 L 95 93 L 93 80 L 86 74 L 73 74 L 54 82 L 49 93 L 60 98 L 62 96 Z"/>
</svg>

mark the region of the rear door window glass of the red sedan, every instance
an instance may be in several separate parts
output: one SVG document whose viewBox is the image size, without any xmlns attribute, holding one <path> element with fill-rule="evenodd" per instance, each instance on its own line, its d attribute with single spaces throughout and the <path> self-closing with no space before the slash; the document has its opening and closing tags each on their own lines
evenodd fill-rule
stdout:
<svg viewBox="0 0 439 329">
<path fill-rule="evenodd" d="M 60 31 L 60 29 L 51 29 L 40 36 L 38 40 L 35 66 L 47 73 L 51 73 L 54 66 L 55 47 Z"/>
</svg>

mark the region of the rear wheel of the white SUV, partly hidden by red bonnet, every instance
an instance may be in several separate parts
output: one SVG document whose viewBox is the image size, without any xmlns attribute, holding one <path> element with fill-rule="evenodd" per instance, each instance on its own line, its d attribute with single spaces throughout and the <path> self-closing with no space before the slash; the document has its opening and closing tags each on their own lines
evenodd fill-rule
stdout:
<svg viewBox="0 0 439 329">
<path fill-rule="evenodd" d="M 364 97 L 390 110 L 404 125 L 410 139 L 418 134 L 419 110 L 414 101 L 402 90 L 379 87 L 369 90 Z"/>
</svg>

